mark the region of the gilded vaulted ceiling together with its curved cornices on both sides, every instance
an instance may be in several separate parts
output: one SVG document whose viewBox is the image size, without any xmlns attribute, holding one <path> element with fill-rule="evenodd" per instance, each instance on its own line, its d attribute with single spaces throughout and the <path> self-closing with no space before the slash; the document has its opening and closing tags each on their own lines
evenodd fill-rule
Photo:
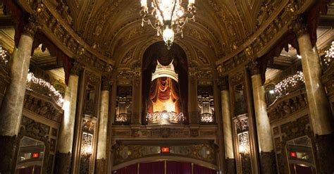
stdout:
<svg viewBox="0 0 334 174">
<path fill-rule="evenodd" d="M 145 49 L 162 39 L 148 25 L 141 26 L 140 0 L 17 1 L 29 13 L 43 4 L 42 32 L 64 54 L 101 73 L 138 67 Z M 184 38 L 177 35 L 175 44 L 184 49 L 193 70 L 214 68 L 222 75 L 266 54 L 293 18 L 315 1 L 196 0 L 196 21 L 185 25 Z"/>
</svg>

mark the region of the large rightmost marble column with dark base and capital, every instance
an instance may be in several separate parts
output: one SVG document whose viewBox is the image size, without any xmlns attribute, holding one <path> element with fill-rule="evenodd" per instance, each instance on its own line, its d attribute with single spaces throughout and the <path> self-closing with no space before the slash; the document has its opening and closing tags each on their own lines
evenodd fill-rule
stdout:
<svg viewBox="0 0 334 174">
<path fill-rule="evenodd" d="M 307 27 L 298 21 L 293 25 L 297 35 L 309 103 L 309 117 L 315 136 L 318 173 L 334 173 L 333 113 L 321 82 L 321 65 L 316 46 L 312 47 Z"/>
</svg>

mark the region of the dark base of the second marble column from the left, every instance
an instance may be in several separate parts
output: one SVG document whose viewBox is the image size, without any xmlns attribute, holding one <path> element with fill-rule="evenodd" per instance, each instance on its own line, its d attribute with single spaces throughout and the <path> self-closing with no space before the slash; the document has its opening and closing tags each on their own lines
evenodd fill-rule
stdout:
<svg viewBox="0 0 334 174">
<path fill-rule="evenodd" d="M 67 174 L 70 173 L 70 165 L 72 161 L 72 155 L 70 152 L 65 153 L 56 153 L 56 159 L 54 162 L 54 173 L 55 174 Z"/>
</svg>

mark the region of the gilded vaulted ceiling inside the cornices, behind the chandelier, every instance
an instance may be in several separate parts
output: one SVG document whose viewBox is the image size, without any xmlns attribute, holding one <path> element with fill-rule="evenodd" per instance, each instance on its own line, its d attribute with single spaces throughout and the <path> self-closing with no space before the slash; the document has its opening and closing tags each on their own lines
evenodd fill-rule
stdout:
<svg viewBox="0 0 334 174">
<path fill-rule="evenodd" d="M 54 4 L 62 0 L 54 1 Z M 273 11 L 282 0 L 196 1 L 196 22 L 185 26 L 185 37 L 176 43 L 187 46 L 188 56 L 211 65 L 240 44 L 264 22 L 263 11 Z M 183 1 L 187 6 L 187 1 Z M 141 27 L 139 0 L 63 0 L 68 22 L 87 44 L 104 51 L 116 62 L 146 43 L 159 40 L 150 27 Z M 56 5 L 57 6 L 57 5 Z M 268 15 L 268 14 L 265 14 Z M 258 20 L 258 16 L 261 17 Z M 190 44 L 191 43 L 191 44 Z M 201 51 L 199 51 L 201 50 Z M 136 52 L 136 51 L 135 51 Z"/>
</svg>

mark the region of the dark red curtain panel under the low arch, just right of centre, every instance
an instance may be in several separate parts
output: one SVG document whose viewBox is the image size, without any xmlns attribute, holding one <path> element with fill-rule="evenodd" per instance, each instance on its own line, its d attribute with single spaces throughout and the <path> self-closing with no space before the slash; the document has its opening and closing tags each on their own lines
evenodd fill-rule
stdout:
<svg viewBox="0 0 334 174">
<path fill-rule="evenodd" d="M 167 174 L 192 174 L 192 163 L 167 161 Z"/>
</svg>

